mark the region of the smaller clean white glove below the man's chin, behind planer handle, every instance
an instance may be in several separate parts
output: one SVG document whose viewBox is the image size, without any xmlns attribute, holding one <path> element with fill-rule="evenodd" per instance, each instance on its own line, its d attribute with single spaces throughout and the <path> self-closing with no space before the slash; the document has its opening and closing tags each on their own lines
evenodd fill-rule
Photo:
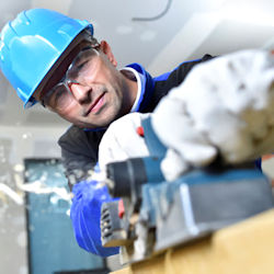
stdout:
<svg viewBox="0 0 274 274">
<path fill-rule="evenodd" d="M 104 170 L 110 162 L 149 156 L 145 139 L 138 134 L 141 118 L 150 114 L 130 113 L 113 122 L 99 146 L 99 165 Z"/>
</svg>

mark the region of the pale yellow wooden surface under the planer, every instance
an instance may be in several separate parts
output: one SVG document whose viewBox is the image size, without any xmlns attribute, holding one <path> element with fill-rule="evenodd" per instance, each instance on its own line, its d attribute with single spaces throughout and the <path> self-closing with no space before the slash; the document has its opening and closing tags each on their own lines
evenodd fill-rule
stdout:
<svg viewBox="0 0 274 274">
<path fill-rule="evenodd" d="M 274 209 L 112 274 L 273 274 Z"/>
</svg>

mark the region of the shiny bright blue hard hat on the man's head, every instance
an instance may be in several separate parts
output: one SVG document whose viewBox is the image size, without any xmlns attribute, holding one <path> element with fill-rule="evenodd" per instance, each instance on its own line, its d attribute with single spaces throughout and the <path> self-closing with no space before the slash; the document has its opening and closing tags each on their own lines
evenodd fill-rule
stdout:
<svg viewBox="0 0 274 274">
<path fill-rule="evenodd" d="M 24 107 L 36 103 L 32 94 L 88 21 L 47 9 L 23 11 L 8 22 L 0 35 L 0 67 Z"/>
</svg>

